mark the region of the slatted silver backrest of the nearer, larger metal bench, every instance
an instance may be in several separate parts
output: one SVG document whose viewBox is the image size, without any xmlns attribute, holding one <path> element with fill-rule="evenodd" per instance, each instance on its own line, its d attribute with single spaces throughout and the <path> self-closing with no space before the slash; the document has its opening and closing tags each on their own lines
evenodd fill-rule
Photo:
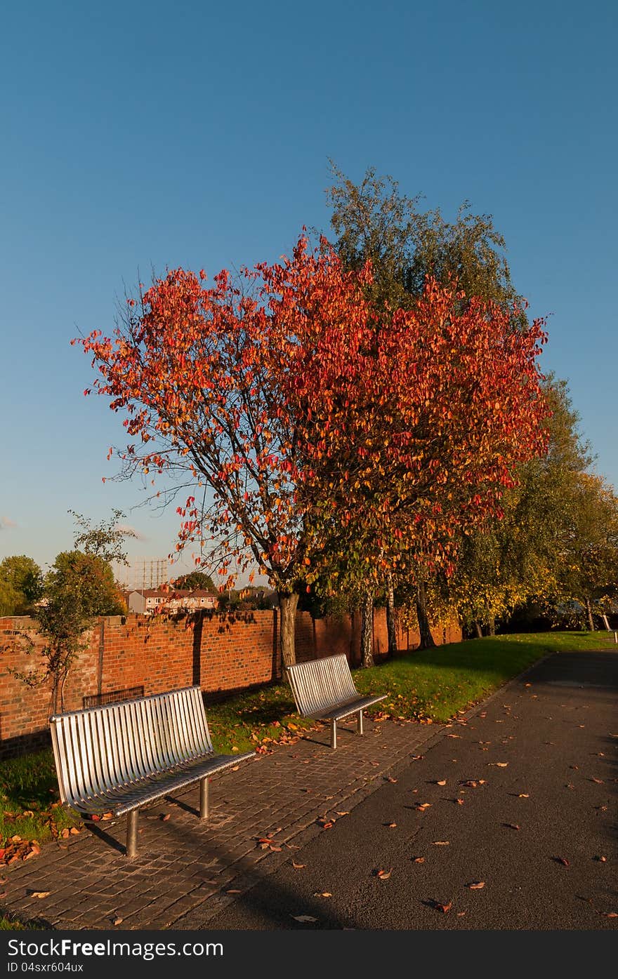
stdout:
<svg viewBox="0 0 618 979">
<path fill-rule="evenodd" d="M 199 686 L 58 714 L 50 724 L 69 803 L 213 751 Z"/>
</svg>

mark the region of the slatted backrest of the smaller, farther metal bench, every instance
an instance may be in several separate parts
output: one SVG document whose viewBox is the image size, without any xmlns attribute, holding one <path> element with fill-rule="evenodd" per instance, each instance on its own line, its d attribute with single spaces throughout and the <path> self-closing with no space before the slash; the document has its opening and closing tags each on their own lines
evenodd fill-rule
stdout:
<svg viewBox="0 0 618 979">
<path fill-rule="evenodd" d="M 345 653 L 286 667 L 299 714 L 307 717 L 355 700 L 354 685 Z"/>
</svg>

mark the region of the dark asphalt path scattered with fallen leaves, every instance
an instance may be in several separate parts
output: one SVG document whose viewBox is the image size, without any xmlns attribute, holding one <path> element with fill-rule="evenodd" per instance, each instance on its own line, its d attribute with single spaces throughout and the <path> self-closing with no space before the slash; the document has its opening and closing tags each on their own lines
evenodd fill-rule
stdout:
<svg viewBox="0 0 618 979">
<path fill-rule="evenodd" d="M 618 653 L 549 657 L 208 928 L 616 928 L 617 708 Z"/>
</svg>

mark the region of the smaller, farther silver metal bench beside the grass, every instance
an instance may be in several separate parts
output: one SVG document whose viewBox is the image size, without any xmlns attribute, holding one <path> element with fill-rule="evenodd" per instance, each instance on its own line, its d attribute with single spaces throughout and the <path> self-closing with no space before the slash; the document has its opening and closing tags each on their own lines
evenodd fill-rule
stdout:
<svg viewBox="0 0 618 979">
<path fill-rule="evenodd" d="M 362 734 L 362 712 L 379 697 L 360 697 L 345 653 L 325 656 L 309 663 L 286 667 L 299 714 L 315 721 L 330 721 L 330 746 L 337 747 L 337 722 L 357 714 L 358 734 Z"/>
</svg>

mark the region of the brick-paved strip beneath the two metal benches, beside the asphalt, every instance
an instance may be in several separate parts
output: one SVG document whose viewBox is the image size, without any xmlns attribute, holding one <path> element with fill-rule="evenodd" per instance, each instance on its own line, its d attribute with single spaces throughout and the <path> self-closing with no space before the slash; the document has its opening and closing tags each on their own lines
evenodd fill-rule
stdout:
<svg viewBox="0 0 618 979">
<path fill-rule="evenodd" d="M 122 853 L 124 819 L 47 844 L 7 868 L 2 909 L 58 929 L 109 928 L 120 918 L 120 930 L 203 926 L 321 832 L 316 819 L 351 811 L 443 729 L 367 721 L 359 738 L 356 722 L 343 726 L 335 752 L 322 729 L 214 777 L 206 823 L 197 788 L 142 810 L 133 862 Z M 280 850 L 261 849 L 269 834 Z"/>
</svg>

